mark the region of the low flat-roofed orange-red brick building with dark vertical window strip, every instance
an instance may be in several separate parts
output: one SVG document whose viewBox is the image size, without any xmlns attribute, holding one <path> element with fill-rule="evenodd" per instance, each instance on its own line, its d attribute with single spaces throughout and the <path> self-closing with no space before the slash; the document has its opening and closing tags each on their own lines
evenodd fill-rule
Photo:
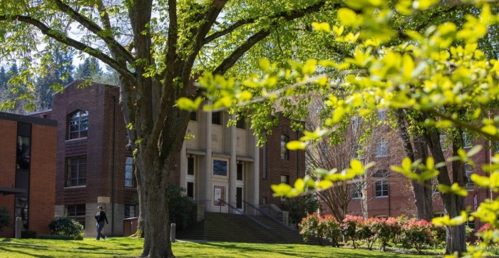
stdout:
<svg viewBox="0 0 499 258">
<path fill-rule="evenodd" d="M 49 234 L 56 199 L 57 122 L 0 112 L 0 207 L 11 226 L 0 237 L 14 237 L 16 217 L 22 229 Z"/>
</svg>

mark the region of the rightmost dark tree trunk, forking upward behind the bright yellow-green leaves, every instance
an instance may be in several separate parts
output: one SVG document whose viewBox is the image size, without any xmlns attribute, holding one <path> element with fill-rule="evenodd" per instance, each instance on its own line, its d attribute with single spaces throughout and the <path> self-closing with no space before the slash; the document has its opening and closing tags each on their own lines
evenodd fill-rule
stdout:
<svg viewBox="0 0 499 258">
<path fill-rule="evenodd" d="M 461 130 L 458 130 L 457 135 L 453 137 L 453 155 L 457 155 L 458 146 L 461 146 Z M 446 162 L 445 157 L 442 153 L 442 148 L 440 145 L 440 134 L 436 128 L 431 128 L 427 130 L 425 134 L 428 146 L 431 150 L 431 154 L 435 159 L 435 163 Z M 465 185 L 465 180 L 463 177 L 463 162 L 453 161 L 453 180 L 451 181 L 450 173 L 447 166 L 439 167 L 438 170 L 438 183 L 443 185 L 451 185 L 453 182 L 457 182 L 460 187 Z M 450 217 L 457 217 L 461 215 L 461 210 L 464 208 L 464 197 L 453 195 L 449 193 L 442 193 L 443 207 L 446 209 L 447 215 Z M 462 254 L 466 252 L 466 239 L 465 239 L 465 227 L 464 225 L 459 226 L 447 226 L 446 227 L 446 254 Z"/>
</svg>

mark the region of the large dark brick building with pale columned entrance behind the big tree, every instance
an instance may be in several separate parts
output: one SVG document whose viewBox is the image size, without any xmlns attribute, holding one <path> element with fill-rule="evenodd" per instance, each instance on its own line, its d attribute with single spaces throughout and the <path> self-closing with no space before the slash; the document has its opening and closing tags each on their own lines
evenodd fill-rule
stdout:
<svg viewBox="0 0 499 258">
<path fill-rule="evenodd" d="M 56 216 L 81 222 L 86 237 L 96 235 L 93 214 L 98 205 L 110 224 L 103 234 L 123 235 L 123 219 L 138 216 L 132 153 L 125 149 L 128 139 L 118 98 L 118 87 L 81 87 L 75 81 L 53 95 L 51 110 L 31 114 L 58 121 Z M 185 188 L 205 212 L 235 212 L 218 199 L 238 210 L 246 209 L 243 201 L 282 207 L 270 185 L 304 176 L 303 154 L 287 151 L 282 156 L 281 146 L 297 133 L 282 120 L 261 150 L 245 120 L 227 127 L 231 117 L 235 115 L 226 112 L 191 113 L 186 133 L 195 137 L 185 140 L 170 181 Z"/>
</svg>

